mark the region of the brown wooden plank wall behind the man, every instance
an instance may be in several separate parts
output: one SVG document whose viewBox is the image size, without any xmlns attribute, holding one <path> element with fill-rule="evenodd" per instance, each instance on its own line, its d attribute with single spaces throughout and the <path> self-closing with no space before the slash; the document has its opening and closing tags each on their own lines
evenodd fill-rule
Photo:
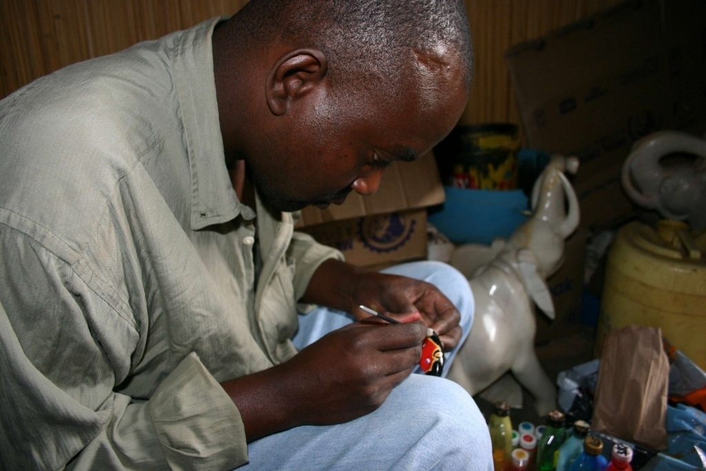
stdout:
<svg viewBox="0 0 706 471">
<path fill-rule="evenodd" d="M 0 0 L 0 98 L 68 64 L 231 15 L 246 1 Z M 462 122 L 519 122 L 505 50 L 618 1 L 465 0 L 476 60 Z"/>
</svg>

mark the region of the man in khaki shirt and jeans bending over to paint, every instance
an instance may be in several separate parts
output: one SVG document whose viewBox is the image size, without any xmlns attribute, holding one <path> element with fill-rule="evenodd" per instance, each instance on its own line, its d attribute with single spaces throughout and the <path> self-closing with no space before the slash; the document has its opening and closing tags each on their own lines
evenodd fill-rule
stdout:
<svg viewBox="0 0 706 471">
<path fill-rule="evenodd" d="M 489 469 L 468 395 L 410 376 L 465 280 L 397 269 L 460 313 L 291 213 L 440 141 L 470 47 L 460 1 L 253 0 L 1 102 L 4 465 Z"/>
</svg>

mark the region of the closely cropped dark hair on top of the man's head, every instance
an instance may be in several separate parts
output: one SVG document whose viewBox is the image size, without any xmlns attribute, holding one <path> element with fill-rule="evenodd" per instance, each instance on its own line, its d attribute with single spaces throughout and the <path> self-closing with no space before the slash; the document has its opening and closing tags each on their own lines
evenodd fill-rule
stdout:
<svg viewBox="0 0 706 471">
<path fill-rule="evenodd" d="M 282 39 L 316 47 L 328 57 L 331 76 L 345 73 L 373 84 L 405 73 L 410 50 L 432 53 L 443 44 L 457 52 L 471 85 L 463 0 L 251 0 L 234 19 L 253 45 Z"/>
</svg>

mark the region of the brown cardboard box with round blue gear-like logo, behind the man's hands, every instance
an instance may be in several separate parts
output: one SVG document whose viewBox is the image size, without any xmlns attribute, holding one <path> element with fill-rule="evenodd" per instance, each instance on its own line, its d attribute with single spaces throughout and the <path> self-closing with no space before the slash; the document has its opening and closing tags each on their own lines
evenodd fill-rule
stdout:
<svg viewBox="0 0 706 471">
<path fill-rule="evenodd" d="M 356 266 L 426 258 L 426 207 L 445 194 L 433 154 L 395 162 L 371 196 L 351 193 L 340 206 L 301 211 L 297 230 L 339 249 Z"/>
</svg>

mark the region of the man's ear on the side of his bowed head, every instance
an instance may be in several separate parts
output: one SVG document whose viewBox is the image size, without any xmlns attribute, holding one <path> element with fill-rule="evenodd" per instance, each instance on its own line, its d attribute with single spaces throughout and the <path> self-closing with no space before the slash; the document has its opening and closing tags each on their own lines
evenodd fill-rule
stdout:
<svg viewBox="0 0 706 471">
<path fill-rule="evenodd" d="M 321 85 L 327 70 L 326 56 L 318 49 L 292 49 L 280 56 L 265 82 L 270 112 L 276 116 L 286 114 L 293 100 Z"/>
</svg>

